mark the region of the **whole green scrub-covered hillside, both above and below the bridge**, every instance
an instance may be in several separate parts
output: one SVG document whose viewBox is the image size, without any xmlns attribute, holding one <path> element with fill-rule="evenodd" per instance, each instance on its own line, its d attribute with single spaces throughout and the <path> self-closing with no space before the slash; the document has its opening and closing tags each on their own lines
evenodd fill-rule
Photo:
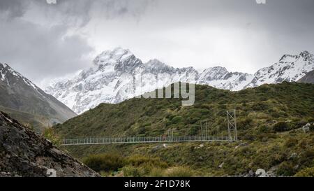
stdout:
<svg viewBox="0 0 314 191">
<path fill-rule="evenodd" d="M 237 143 L 64 149 L 89 164 L 95 164 L 96 159 L 102 159 L 98 161 L 100 164 L 108 162 L 104 153 L 123 159 L 113 169 L 98 169 L 106 175 L 117 171 L 124 176 L 167 176 L 176 172 L 187 176 L 244 176 L 260 168 L 275 171 L 276 176 L 313 175 L 314 85 L 281 83 L 239 92 L 207 85 L 195 87 L 193 106 L 181 106 L 180 99 L 130 99 L 117 105 L 100 104 L 63 125 L 54 126 L 54 131 L 67 139 L 161 136 L 169 129 L 174 129 L 174 135 L 185 136 L 200 134 L 200 122 L 208 120 L 209 134 L 220 135 L 227 133 L 226 111 L 236 109 L 241 140 Z M 311 132 L 304 133 L 300 128 L 308 122 L 312 124 Z M 94 154 L 105 156 L 89 156 Z M 134 162 L 136 159 L 140 162 Z"/>
</svg>

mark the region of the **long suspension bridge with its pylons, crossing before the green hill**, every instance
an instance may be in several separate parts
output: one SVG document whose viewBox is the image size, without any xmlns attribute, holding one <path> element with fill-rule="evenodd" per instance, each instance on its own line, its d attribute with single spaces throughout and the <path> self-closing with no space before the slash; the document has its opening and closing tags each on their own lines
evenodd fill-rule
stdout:
<svg viewBox="0 0 314 191">
<path fill-rule="evenodd" d="M 204 127 L 205 123 L 205 127 Z M 236 111 L 227 111 L 227 136 L 208 136 L 208 121 L 200 122 L 200 136 L 174 136 L 168 131 L 167 136 L 143 137 L 103 137 L 84 139 L 63 139 L 61 146 L 86 146 L 125 143 L 184 143 L 184 142 L 211 142 L 211 141 L 238 141 Z"/>
</svg>

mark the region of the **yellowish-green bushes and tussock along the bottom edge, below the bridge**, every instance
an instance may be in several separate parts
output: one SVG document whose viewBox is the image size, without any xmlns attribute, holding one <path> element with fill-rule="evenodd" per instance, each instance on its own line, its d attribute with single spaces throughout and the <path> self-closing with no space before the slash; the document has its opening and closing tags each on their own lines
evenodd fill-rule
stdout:
<svg viewBox="0 0 314 191">
<path fill-rule="evenodd" d="M 127 177 L 190 177 L 194 171 L 188 167 L 170 167 L 159 157 L 131 155 L 124 157 L 117 153 L 89 155 L 84 157 L 84 164 L 98 171 L 103 176 Z"/>
</svg>

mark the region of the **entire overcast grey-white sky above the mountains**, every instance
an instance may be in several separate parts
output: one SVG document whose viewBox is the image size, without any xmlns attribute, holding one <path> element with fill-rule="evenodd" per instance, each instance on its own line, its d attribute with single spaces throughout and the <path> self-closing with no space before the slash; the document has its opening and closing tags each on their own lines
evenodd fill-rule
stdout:
<svg viewBox="0 0 314 191">
<path fill-rule="evenodd" d="M 40 86 L 128 48 L 147 62 L 255 73 L 314 52 L 314 1 L 0 0 L 0 62 Z"/>
</svg>

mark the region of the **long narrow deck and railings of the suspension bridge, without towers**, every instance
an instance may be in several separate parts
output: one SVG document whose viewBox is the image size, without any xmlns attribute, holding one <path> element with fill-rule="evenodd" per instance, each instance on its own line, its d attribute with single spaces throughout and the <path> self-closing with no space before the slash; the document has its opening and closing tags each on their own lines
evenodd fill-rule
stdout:
<svg viewBox="0 0 314 191">
<path fill-rule="evenodd" d="M 64 139 L 62 146 L 82 146 L 124 143 L 175 143 L 175 142 L 209 142 L 235 141 L 229 136 L 172 136 L 172 137 L 107 137 L 86 139 Z"/>
</svg>

